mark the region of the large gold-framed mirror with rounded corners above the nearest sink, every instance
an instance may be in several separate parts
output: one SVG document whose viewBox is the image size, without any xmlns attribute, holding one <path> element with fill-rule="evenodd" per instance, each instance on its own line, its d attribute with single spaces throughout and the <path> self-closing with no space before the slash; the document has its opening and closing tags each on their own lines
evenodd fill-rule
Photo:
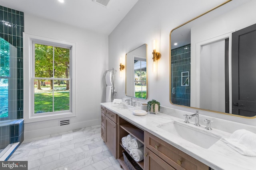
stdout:
<svg viewBox="0 0 256 170">
<path fill-rule="evenodd" d="M 255 118 L 255 8 L 228 0 L 171 31 L 172 104 Z"/>
</svg>

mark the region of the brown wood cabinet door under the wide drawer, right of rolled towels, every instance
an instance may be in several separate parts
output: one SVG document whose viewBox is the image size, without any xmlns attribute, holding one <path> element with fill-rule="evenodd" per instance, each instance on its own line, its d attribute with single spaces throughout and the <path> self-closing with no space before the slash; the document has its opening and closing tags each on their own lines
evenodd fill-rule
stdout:
<svg viewBox="0 0 256 170">
<path fill-rule="evenodd" d="M 145 147 L 144 155 L 144 169 L 145 170 L 176 170 L 164 160 L 156 156 L 148 148 Z"/>
</svg>

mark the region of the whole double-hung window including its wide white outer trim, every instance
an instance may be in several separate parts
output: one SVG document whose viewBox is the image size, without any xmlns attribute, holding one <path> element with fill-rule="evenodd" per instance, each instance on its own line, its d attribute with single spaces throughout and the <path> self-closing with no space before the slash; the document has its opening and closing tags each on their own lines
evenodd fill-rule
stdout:
<svg viewBox="0 0 256 170">
<path fill-rule="evenodd" d="M 29 59 L 24 63 L 24 86 L 28 86 L 24 87 L 24 100 L 29 101 L 24 108 L 29 110 L 28 118 L 74 116 L 75 44 L 29 34 L 24 39 L 24 45 L 29 46 L 24 52 L 24 58 Z"/>
</svg>

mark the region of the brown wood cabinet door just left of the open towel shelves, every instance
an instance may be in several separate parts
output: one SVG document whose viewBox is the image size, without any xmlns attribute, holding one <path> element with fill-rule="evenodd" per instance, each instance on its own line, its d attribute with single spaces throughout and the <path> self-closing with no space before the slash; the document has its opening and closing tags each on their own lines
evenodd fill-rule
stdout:
<svg viewBox="0 0 256 170">
<path fill-rule="evenodd" d="M 112 120 L 110 120 L 108 117 L 105 117 L 106 124 L 105 124 L 105 143 L 108 146 L 108 149 L 110 152 L 114 155 L 116 158 L 116 123 L 114 123 Z"/>
</svg>

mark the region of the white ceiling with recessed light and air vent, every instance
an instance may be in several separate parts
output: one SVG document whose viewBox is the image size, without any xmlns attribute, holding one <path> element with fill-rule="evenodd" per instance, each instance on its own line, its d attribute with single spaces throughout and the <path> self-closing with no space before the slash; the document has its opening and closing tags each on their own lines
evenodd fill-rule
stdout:
<svg viewBox="0 0 256 170">
<path fill-rule="evenodd" d="M 109 35 L 138 0 L 0 0 L 0 6 Z"/>
</svg>

